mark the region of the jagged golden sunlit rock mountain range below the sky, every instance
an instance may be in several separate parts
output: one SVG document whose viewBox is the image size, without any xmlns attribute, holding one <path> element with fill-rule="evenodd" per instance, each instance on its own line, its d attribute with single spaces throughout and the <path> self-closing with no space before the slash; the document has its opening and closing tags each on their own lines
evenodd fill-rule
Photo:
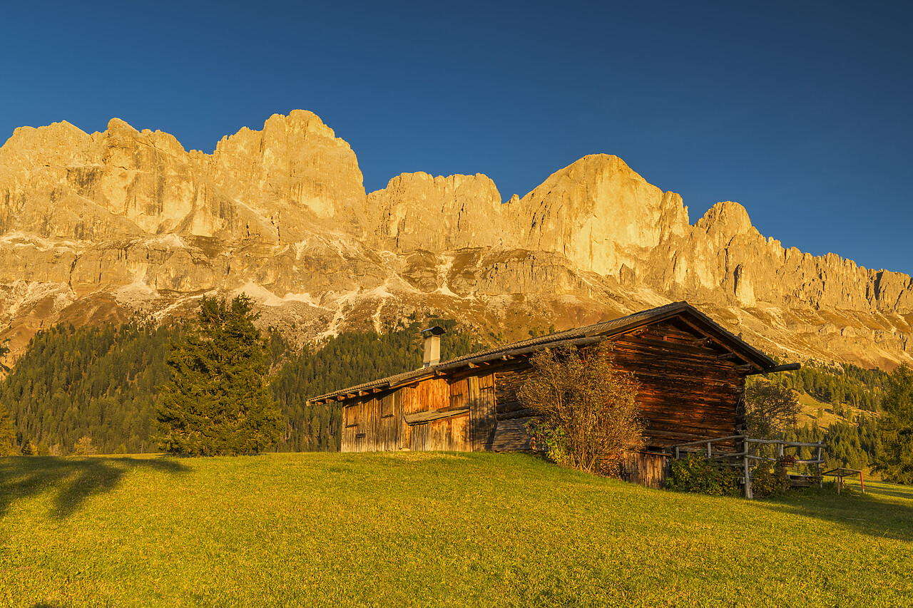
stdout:
<svg viewBox="0 0 913 608">
<path fill-rule="evenodd" d="M 0 148 L 0 328 L 186 315 L 244 291 L 306 341 L 413 312 L 507 339 L 688 299 L 792 359 L 911 362 L 904 274 L 785 249 L 738 203 L 691 225 L 680 196 L 596 154 L 502 202 L 487 176 L 403 173 L 366 194 L 311 112 L 215 152 L 112 119 L 17 129 Z"/>
</svg>

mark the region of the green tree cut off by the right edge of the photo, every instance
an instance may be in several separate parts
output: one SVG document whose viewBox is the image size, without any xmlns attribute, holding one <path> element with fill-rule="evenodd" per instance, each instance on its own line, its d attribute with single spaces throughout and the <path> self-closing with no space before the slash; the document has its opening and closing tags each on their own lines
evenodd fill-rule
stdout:
<svg viewBox="0 0 913 608">
<path fill-rule="evenodd" d="M 883 452 L 875 469 L 887 481 L 913 484 L 913 371 L 906 365 L 891 374 L 881 407 Z"/>
</svg>

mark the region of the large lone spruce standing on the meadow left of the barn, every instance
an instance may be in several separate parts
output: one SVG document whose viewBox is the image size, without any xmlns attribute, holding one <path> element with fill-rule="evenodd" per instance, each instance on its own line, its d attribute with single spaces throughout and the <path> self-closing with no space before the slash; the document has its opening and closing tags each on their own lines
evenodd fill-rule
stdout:
<svg viewBox="0 0 913 608">
<path fill-rule="evenodd" d="M 174 345 L 171 383 L 157 407 L 161 447 L 172 454 L 257 454 L 282 434 L 267 390 L 270 350 L 254 326 L 251 299 L 204 297 L 196 323 Z"/>
</svg>

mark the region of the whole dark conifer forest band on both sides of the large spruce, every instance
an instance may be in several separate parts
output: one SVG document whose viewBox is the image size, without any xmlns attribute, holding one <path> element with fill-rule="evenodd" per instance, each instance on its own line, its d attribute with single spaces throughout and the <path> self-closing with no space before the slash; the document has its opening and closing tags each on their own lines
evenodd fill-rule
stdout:
<svg viewBox="0 0 913 608">
<path fill-rule="evenodd" d="M 267 330 L 264 372 L 282 425 L 273 449 L 338 450 L 339 406 L 309 406 L 307 400 L 421 367 L 419 330 L 428 324 L 447 329 L 442 359 L 485 348 L 455 320 L 436 318 L 413 317 L 383 333 L 342 332 L 302 349 L 278 330 Z M 163 386 L 173 382 L 173 347 L 184 342 L 188 329 L 187 323 L 131 320 L 38 331 L 0 382 L 0 455 L 157 451 L 156 408 Z"/>
</svg>

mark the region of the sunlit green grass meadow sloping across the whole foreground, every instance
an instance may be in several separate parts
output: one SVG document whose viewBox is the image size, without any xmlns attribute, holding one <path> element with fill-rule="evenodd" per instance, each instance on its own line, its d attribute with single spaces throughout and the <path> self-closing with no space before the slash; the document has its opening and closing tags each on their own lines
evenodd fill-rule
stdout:
<svg viewBox="0 0 913 608">
<path fill-rule="evenodd" d="M 521 455 L 0 458 L 0 605 L 906 606 L 913 493 L 749 502 Z"/>
</svg>

